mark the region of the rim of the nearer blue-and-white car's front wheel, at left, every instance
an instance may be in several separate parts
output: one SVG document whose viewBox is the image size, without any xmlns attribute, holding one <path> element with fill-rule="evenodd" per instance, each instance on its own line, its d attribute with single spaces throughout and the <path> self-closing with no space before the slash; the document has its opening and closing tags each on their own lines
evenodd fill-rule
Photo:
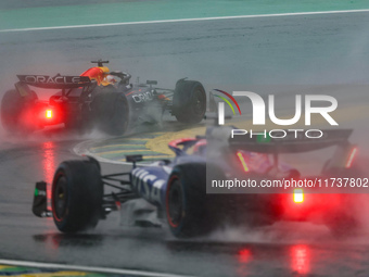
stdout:
<svg viewBox="0 0 369 277">
<path fill-rule="evenodd" d="M 54 186 L 52 193 L 52 212 L 54 218 L 61 222 L 66 213 L 67 206 L 67 189 L 66 189 L 66 178 L 61 175 Z"/>
</svg>

